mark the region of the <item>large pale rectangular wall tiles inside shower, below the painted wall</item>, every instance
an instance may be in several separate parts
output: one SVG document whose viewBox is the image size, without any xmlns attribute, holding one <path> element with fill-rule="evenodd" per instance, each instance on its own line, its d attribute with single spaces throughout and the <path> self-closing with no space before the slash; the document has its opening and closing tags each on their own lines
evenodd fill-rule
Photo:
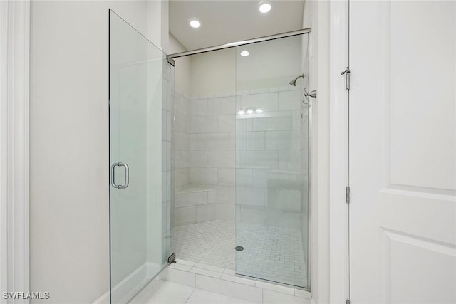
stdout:
<svg viewBox="0 0 456 304">
<path fill-rule="evenodd" d="M 176 208 L 237 200 L 237 204 L 299 212 L 300 94 L 284 87 L 189 100 L 176 93 L 175 187 L 180 192 Z M 237 115 L 239 108 L 261 108 L 264 113 Z M 277 180 L 287 182 L 277 184 Z M 207 190 L 207 199 L 195 201 L 197 194 L 186 194 L 185 189 L 195 187 Z M 284 190 L 270 192 L 271 187 Z M 276 199 L 284 201 L 283 208 L 274 204 Z M 234 221 L 234 212 L 222 215 L 221 206 L 214 209 L 220 210 L 217 219 Z M 211 219 L 200 216 L 206 218 Z M 184 223 L 187 219 L 176 221 L 177 226 Z"/>
</svg>

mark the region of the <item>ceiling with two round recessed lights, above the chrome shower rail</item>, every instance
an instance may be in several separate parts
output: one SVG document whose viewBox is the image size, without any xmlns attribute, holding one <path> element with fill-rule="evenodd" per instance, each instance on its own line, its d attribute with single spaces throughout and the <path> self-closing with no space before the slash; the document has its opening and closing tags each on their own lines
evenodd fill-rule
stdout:
<svg viewBox="0 0 456 304">
<path fill-rule="evenodd" d="M 271 11 L 261 14 L 259 1 L 171 0 L 170 33 L 194 50 L 302 28 L 304 0 L 270 2 Z M 190 18 L 199 19 L 202 26 L 191 28 Z"/>
</svg>

